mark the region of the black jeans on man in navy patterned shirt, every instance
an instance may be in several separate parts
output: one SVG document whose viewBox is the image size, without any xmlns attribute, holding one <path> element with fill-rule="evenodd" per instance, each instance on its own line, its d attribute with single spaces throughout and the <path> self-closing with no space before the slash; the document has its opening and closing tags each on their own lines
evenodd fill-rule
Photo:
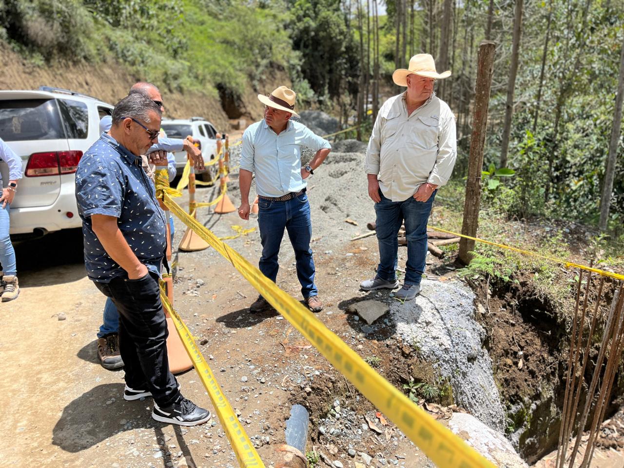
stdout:
<svg viewBox="0 0 624 468">
<path fill-rule="evenodd" d="M 167 358 L 167 320 L 160 302 L 158 276 L 139 280 L 114 278 L 95 286 L 119 311 L 119 351 L 124 360 L 125 383 L 147 388 L 158 406 L 168 406 L 180 392 Z"/>
</svg>

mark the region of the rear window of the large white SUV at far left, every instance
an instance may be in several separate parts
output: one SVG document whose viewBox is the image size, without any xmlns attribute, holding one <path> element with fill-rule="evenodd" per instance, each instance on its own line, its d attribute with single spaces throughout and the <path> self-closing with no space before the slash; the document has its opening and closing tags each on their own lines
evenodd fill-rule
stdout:
<svg viewBox="0 0 624 468">
<path fill-rule="evenodd" d="M 65 138 L 54 99 L 0 100 L 0 137 L 6 142 Z"/>
</svg>

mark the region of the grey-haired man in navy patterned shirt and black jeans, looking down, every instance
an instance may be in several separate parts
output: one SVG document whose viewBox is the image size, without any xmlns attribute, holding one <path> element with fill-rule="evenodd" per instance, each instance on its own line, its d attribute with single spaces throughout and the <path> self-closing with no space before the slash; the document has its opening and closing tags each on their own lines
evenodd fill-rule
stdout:
<svg viewBox="0 0 624 468">
<path fill-rule="evenodd" d="M 169 371 L 167 321 L 158 278 L 167 220 L 141 166 L 160 132 L 160 108 L 142 94 L 120 100 L 112 127 L 80 159 L 76 200 L 87 275 L 119 311 L 124 399 L 154 397 L 157 421 L 194 426 L 210 411 L 185 399 Z"/>
</svg>

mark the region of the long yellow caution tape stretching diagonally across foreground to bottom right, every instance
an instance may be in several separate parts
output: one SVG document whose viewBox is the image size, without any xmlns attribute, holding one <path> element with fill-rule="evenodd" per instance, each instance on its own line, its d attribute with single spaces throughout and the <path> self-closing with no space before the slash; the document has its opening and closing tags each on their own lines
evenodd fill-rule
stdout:
<svg viewBox="0 0 624 468">
<path fill-rule="evenodd" d="M 421 407 L 366 364 L 318 318 L 266 278 L 236 250 L 219 240 L 210 230 L 190 217 L 163 190 L 158 196 L 185 225 L 227 258 L 258 292 L 281 313 L 318 351 L 333 364 L 380 411 L 384 412 L 401 431 L 437 466 L 442 468 L 494 468 L 456 434 L 442 426 Z"/>
</svg>

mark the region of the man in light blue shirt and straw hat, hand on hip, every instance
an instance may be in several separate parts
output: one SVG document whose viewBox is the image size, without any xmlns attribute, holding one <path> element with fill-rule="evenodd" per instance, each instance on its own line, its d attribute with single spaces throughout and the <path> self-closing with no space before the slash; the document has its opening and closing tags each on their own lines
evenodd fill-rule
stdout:
<svg viewBox="0 0 624 468">
<path fill-rule="evenodd" d="M 258 226 L 262 243 L 259 268 L 271 281 L 280 268 L 278 253 L 284 230 L 295 250 L 297 277 L 301 294 L 313 312 L 323 310 L 314 284 L 314 260 L 310 248 L 312 223 L 306 186 L 310 174 L 323 163 L 331 145 L 308 127 L 290 118 L 295 112 L 295 91 L 280 86 L 270 95 L 258 94 L 265 105 L 265 118 L 250 125 L 243 134 L 238 175 L 241 205 L 238 215 L 249 219 L 249 188 L 251 175 L 256 173 L 258 193 Z M 301 167 L 301 147 L 316 152 L 308 165 Z M 268 307 L 262 296 L 251 306 L 251 312 Z"/>
</svg>

